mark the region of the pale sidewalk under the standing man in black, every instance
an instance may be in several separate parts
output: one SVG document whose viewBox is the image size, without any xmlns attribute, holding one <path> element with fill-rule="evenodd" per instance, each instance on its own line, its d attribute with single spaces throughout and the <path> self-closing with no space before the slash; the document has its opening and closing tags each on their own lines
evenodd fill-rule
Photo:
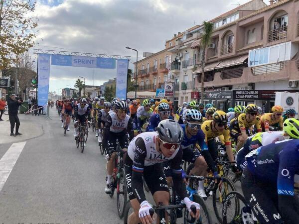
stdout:
<svg viewBox="0 0 299 224">
<path fill-rule="evenodd" d="M 0 121 L 0 144 L 24 141 L 43 134 L 42 124 L 45 120 L 44 115 L 32 116 L 31 114 L 25 115 L 18 113 L 18 117 L 20 120 L 19 132 L 22 133 L 22 135 L 13 137 L 10 136 L 8 115 L 2 115 L 3 121 Z"/>
</svg>

